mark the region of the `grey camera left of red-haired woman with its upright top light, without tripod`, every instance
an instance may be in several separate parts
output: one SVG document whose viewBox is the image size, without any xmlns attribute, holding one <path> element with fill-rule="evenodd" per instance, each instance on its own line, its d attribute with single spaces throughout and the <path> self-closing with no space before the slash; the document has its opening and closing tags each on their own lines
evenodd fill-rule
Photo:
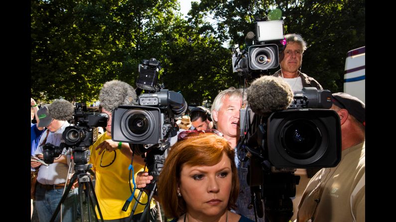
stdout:
<svg viewBox="0 0 396 222">
<path fill-rule="evenodd" d="M 160 70 L 161 65 L 154 58 L 139 64 L 136 85 L 148 92 L 138 96 L 137 106 L 119 106 L 113 110 L 113 141 L 144 144 L 148 148 L 176 136 L 174 115 L 185 112 L 187 103 L 182 94 L 157 84 Z"/>
</svg>

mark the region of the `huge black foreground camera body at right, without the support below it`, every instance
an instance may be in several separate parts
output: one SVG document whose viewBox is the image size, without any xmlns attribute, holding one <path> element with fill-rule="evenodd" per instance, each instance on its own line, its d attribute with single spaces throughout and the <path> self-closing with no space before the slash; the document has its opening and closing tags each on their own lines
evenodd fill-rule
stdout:
<svg viewBox="0 0 396 222">
<path fill-rule="evenodd" d="M 331 106 L 329 90 L 305 87 L 286 110 L 255 114 L 249 130 L 241 121 L 241 135 L 248 134 L 248 150 L 267 168 L 334 167 L 341 160 L 341 126 Z"/>
</svg>

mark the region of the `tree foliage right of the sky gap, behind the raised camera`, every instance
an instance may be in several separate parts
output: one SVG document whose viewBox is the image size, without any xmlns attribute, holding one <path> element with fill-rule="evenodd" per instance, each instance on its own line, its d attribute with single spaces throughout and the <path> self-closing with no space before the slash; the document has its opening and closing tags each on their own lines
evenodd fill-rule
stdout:
<svg viewBox="0 0 396 222">
<path fill-rule="evenodd" d="M 211 17 L 218 23 L 205 31 L 243 45 L 256 18 L 275 7 L 282 12 L 284 33 L 301 34 L 307 42 L 302 72 L 326 89 L 342 91 L 347 52 L 365 45 L 365 0 L 201 0 L 192 5 L 189 21 Z"/>
</svg>

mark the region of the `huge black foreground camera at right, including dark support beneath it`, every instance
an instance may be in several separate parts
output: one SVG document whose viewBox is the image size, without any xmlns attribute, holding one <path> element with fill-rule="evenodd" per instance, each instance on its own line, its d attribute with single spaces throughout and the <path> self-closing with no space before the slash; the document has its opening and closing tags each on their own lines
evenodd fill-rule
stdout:
<svg viewBox="0 0 396 222">
<path fill-rule="evenodd" d="M 264 200 L 269 221 L 288 222 L 299 183 L 296 168 L 334 167 L 341 160 L 340 119 L 331 106 L 329 90 L 305 87 L 294 92 L 286 110 L 258 115 L 241 109 L 237 149 L 249 153 L 247 181 L 258 217 L 264 216 Z"/>
</svg>

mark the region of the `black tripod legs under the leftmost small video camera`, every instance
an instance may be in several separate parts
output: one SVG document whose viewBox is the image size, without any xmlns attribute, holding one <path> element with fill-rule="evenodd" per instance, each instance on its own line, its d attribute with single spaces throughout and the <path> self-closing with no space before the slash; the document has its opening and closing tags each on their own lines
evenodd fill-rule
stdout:
<svg viewBox="0 0 396 222">
<path fill-rule="evenodd" d="M 89 152 L 88 148 L 76 148 L 75 151 L 81 152 L 81 151 L 85 151 L 85 152 Z M 87 199 L 87 204 L 88 204 L 88 218 L 89 221 L 91 221 L 91 209 L 90 207 L 92 207 L 92 211 L 94 212 L 93 214 L 96 215 L 95 213 L 95 206 L 98 208 L 98 213 L 99 216 L 101 218 L 101 222 L 103 222 L 103 216 L 102 216 L 102 212 L 99 208 L 99 203 L 98 203 L 98 199 L 96 198 L 96 194 L 95 194 L 95 189 L 94 189 L 94 185 L 92 184 L 92 180 L 91 180 L 91 174 L 88 172 L 88 169 L 92 167 L 92 164 L 84 164 L 83 162 L 88 162 L 86 161 L 86 158 L 83 158 L 82 163 L 77 163 L 76 161 L 81 160 L 81 158 L 76 158 L 76 156 L 81 156 L 78 155 L 76 152 L 73 153 L 73 157 L 74 157 L 74 170 L 76 171 L 76 173 L 73 174 L 72 178 L 70 179 L 69 184 L 66 186 L 66 190 L 62 195 L 61 200 L 59 201 L 58 206 L 55 209 L 54 214 L 51 217 L 50 222 L 54 222 L 56 216 L 59 213 L 59 210 L 63 204 L 63 202 L 66 200 L 67 195 L 69 194 L 70 189 L 72 188 L 74 182 L 78 179 L 78 196 L 80 199 L 80 210 L 81 210 L 81 222 L 84 222 L 84 214 L 83 214 L 83 189 L 84 186 L 87 188 L 87 192 L 88 192 L 88 199 Z M 75 155 L 77 154 L 77 155 Z M 92 196 L 91 196 L 92 195 Z M 92 205 L 91 205 L 92 203 Z M 98 221 L 98 218 L 96 218 L 96 221 Z"/>
</svg>

